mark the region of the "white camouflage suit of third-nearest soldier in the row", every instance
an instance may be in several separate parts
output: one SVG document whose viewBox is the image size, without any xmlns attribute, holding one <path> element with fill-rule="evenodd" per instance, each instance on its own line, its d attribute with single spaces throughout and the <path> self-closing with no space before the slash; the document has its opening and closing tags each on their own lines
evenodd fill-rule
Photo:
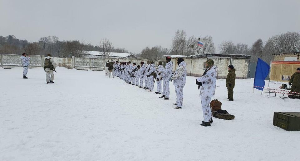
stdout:
<svg viewBox="0 0 300 161">
<path fill-rule="evenodd" d="M 165 69 L 160 74 L 160 79 L 164 81 L 162 94 L 165 95 L 166 98 L 169 98 L 169 96 L 170 96 L 169 78 L 172 75 L 172 70 L 173 70 L 173 62 L 168 62 L 168 63 L 166 63 Z"/>
</svg>

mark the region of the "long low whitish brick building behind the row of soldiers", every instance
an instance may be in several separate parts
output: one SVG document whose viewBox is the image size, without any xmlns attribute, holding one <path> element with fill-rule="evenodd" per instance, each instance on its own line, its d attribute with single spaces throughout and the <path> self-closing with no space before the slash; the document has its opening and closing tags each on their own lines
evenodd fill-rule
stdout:
<svg viewBox="0 0 300 161">
<path fill-rule="evenodd" d="M 177 68 L 177 59 L 183 58 L 186 62 L 188 76 L 202 76 L 205 71 L 205 62 L 207 59 L 213 59 L 214 65 L 218 67 L 218 79 L 225 79 L 228 74 L 228 66 L 233 65 L 236 69 L 236 78 L 248 78 L 250 55 L 235 54 L 200 54 L 200 55 L 164 55 L 171 57 L 173 62 L 173 71 Z"/>
</svg>

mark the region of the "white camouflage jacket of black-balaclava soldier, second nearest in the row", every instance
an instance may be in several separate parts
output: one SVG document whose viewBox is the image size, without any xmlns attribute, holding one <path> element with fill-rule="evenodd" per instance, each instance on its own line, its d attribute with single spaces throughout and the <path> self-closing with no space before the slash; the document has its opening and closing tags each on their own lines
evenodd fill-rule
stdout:
<svg viewBox="0 0 300 161">
<path fill-rule="evenodd" d="M 173 84 L 179 86 L 185 86 L 186 80 L 186 63 L 180 62 L 175 73 L 172 76 Z"/>
</svg>

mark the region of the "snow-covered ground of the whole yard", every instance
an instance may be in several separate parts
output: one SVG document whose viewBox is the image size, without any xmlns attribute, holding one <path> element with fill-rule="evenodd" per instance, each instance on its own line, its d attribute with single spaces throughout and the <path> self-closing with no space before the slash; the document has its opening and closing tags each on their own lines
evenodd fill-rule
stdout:
<svg viewBox="0 0 300 161">
<path fill-rule="evenodd" d="M 22 68 L 1 68 L 0 76 L 1 161 L 300 160 L 300 131 L 272 124 L 274 112 L 299 112 L 300 100 L 253 94 L 253 79 L 236 81 L 234 102 L 218 80 L 213 99 L 235 119 L 203 127 L 195 77 L 187 77 L 183 108 L 174 109 L 173 83 L 162 100 L 104 71 L 60 67 L 54 84 L 42 68 L 29 69 L 29 79 Z"/>
</svg>

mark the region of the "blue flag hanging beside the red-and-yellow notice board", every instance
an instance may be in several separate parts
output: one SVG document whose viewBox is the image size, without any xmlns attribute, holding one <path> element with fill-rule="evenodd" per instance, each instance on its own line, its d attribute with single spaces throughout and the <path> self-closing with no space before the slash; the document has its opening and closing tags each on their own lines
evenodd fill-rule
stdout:
<svg viewBox="0 0 300 161">
<path fill-rule="evenodd" d="M 263 90 L 265 79 L 268 76 L 269 71 L 270 66 L 262 59 L 258 58 L 254 77 L 254 88 Z"/>
</svg>

